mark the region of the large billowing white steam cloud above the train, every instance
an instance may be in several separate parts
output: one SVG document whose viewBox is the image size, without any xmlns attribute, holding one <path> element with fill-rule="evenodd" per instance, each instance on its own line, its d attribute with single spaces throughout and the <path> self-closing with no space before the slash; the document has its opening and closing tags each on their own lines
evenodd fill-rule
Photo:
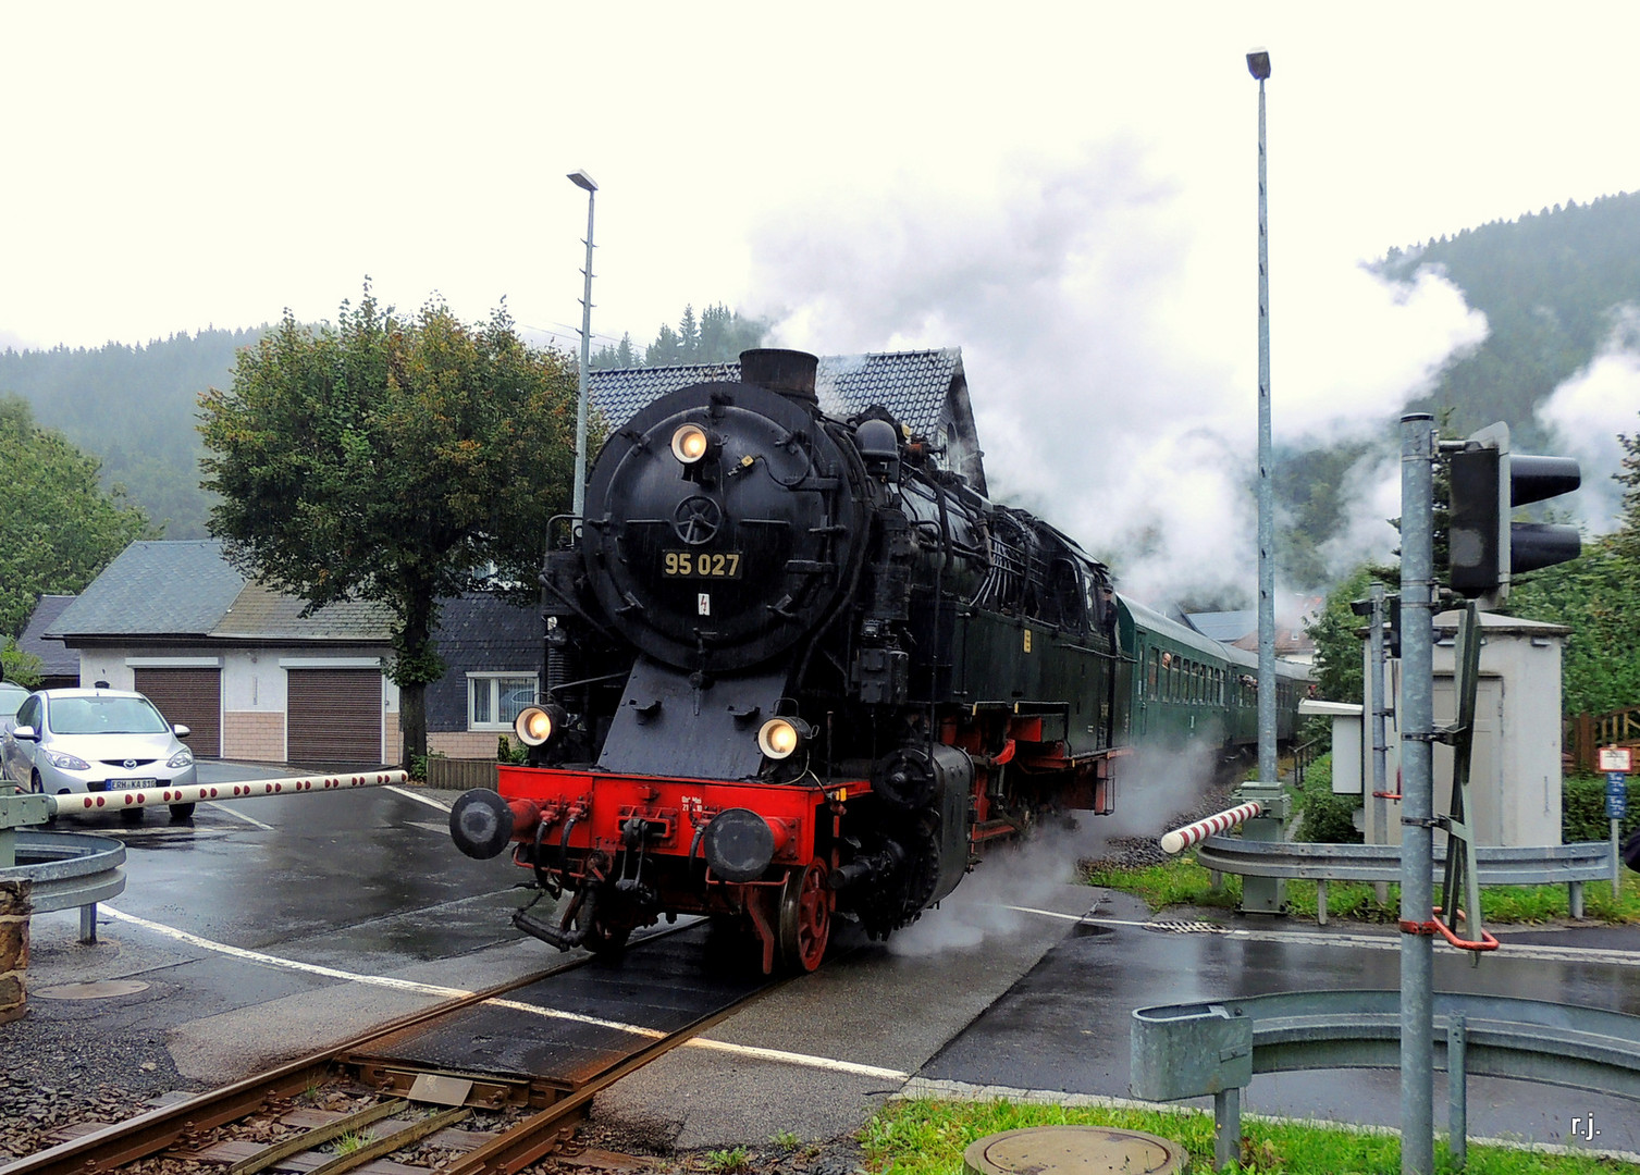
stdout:
<svg viewBox="0 0 1640 1175">
<path fill-rule="evenodd" d="M 905 184 L 871 206 L 815 195 L 754 234 L 754 311 L 781 344 L 827 354 L 961 346 L 995 497 L 1110 556 L 1138 598 L 1246 592 L 1256 243 L 1251 221 L 1228 241 L 1204 218 L 1225 200 L 1187 174 L 1117 141 L 1014 161 L 982 200 Z M 1278 442 L 1392 436 L 1486 336 L 1432 269 L 1384 282 L 1323 241 L 1271 264 Z"/>
</svg>

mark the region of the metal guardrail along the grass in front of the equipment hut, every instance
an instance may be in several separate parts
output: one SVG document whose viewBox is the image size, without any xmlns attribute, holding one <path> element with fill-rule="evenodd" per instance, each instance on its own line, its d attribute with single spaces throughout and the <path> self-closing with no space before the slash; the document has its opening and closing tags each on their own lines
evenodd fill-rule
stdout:
<svg viewBox="0 0 1640 1175">
<path fill-rule="evenodd" d="M 1612 875 L 1612 846 L 1578 841 L 1550 846 L 1479 846 L 1474 851 L 1481 885 L 1566 885 L 1571 916 L 1583 918 L 1583 883 Z M 1399 882 L 1401 846 L 1309 844 L 1245 841 L 1210 836 L 1196 846 L 1196 859 L 1215 873 L 1245 877 L 1302 877 L 1315 882 L 1317 918 L 1327 924 L 1327 882 Z M 1442 878 L 1446 851 L 1435 851 L 1433 878 Z"/>
</svg>

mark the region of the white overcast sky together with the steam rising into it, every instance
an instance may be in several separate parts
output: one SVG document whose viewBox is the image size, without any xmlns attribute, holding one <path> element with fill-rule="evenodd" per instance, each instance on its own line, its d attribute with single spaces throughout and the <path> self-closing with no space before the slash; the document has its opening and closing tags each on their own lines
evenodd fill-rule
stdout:
<svg viewBox="0 0 1640 1175">
<path fill-rule="evenodd" d="M 1438 275 L 1360 262 L 1640 187 L 1627 3 L 787 11 L 13 5 L 0 344 L 333 318 L 369 275 L 572 349 L 585 169 L 595 334 L 725 302 L 823 354 L 959 346 L 992 490 L 1130 587 L 1250 587 L 1246 49 L 1274 67 L 1278 441 L 1392 436 L 1484 338 Z M 1568 431 L 1635 429 L 1625 352 L 1574 383 Z M 1392 487 L 1361 497 L 1384 546 Z"/>
</svg>

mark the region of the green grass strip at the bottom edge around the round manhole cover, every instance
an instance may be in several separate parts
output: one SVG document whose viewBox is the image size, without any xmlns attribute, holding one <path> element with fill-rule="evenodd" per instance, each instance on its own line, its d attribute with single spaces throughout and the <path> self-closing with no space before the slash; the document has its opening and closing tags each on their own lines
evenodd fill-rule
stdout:
<svg viewBox="0 0 1640 1175">
<path fill-rule="evenodd" d="M 963 1150 L 974 1139 L 1028 1126 L 1110 1126 L 1145 1131 L 1181 1144 L 1191 1152 L 1189 1170 L 1212 1170 L 1212 1114 L 1186 1109 L 1100 1109 L 1010 1101 L 897 1101 L 866 1123 L 859 1141 L 869 1167 L 881 1175 L 958 1175 Z M 1610 1160 L 1584 1155 L 1506 1150 L 1469 1146 L 1469 1175 L 1609 1175 Z M 1437 1172 L 1451 1172 L 1446 1147 L 1435 1146 Z M 1241 1119 L 1241 1162 L 1228 1172 L 1287 1172 L 1291 1175 L 1355 1175 L 1401 1170 L 1401 1139 Z"/>
</svg>

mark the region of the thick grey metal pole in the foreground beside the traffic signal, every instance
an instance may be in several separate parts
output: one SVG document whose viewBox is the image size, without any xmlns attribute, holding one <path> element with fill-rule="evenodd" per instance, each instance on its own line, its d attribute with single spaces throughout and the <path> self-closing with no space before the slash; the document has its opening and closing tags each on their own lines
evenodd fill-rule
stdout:
<svg viewBox="0 0 1640 1175">
<path fill-rule="evenodd" d="M 1401 1175 L 1435 1170 L 1435 418 L 1401 418 Z"/>
</svg>

